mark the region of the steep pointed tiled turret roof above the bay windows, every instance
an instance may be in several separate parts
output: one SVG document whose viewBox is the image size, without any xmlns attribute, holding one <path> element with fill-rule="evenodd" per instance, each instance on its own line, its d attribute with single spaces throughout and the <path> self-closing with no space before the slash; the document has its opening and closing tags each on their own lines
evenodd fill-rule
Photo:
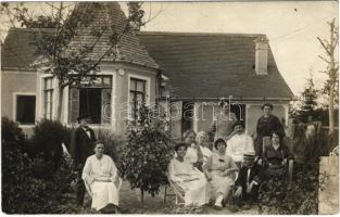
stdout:
<svg viewBox="0 0 340 217">
<path fill-rule="evenodd" d="M 116 62 L 129 62 L 143 66 L 158 68 L 158 64 L 149 55 L 147 49 L 139 42 L 139 38 L 134 31 L 129 30 L 125 34 L 127 18 L 117 2 L 80 2 L 77 3 L 75 10 L 85 14 L 91 14 L 92 21 L 87 27 L 78 28 L 76 36 L 70 43 L 72 50 L 78 50 L 84 46 L 91 46 L 97 37 L 93 36 L 93 29 L 105 29 L 104 35 L 99 39 L 91 53 L 91 59 L 101 56 L 110 46 L 110 36 L 112 31 L 122 38 L 118 40 Z M 104 61 L 113 61 L 113 54 L 106 55 Z"/>
</svg>

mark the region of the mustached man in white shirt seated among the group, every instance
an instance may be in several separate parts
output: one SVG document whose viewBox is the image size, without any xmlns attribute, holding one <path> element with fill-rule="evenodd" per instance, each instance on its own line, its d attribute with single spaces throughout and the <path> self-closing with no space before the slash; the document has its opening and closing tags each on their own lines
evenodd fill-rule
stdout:
<svg viewBox="0 0 340 217">
<path fill-rule="evenodd" d="M 227 154 L 230 155 L 240 168 L 243 154 L 254 152 L 254 143 L 250 136 L 245 135 L 243 124 L 238 120 L 234 124 L 232 137 L 227 141 Z"/>
</svg>

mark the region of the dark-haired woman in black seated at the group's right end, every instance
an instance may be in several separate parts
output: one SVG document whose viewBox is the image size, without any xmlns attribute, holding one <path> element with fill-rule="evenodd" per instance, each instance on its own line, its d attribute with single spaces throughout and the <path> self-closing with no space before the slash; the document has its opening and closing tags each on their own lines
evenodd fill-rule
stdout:
<svg viewBox="0 0 340 217">
<path fill-rule="evenodd" d="M 281 143 L 278 132 L 273 132 L 272 144 L 264 149 L 263 164 L 267 177 L 284 177 L 287 171 L 287 163 L 293 158 L 288 146 Z"/>
</svg>

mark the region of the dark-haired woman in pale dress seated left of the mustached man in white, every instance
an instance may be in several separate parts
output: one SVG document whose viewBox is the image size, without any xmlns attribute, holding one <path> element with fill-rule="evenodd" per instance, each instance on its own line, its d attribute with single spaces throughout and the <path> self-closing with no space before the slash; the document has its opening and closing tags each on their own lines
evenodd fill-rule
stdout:
<svg viewBox="0 0 340 217">
<path fill-rule="evenodd" d="M 215 141 L 216 152 L 211 155 L 203 167 L 216 197 L 215 208 L 222 208 L 222 203 L 228 196 L 234 186 L 236 171 L 238 171 L 231 156 L 226 154 L 226 146 L 224 139 L 217 139 Z"/>
</svg>

